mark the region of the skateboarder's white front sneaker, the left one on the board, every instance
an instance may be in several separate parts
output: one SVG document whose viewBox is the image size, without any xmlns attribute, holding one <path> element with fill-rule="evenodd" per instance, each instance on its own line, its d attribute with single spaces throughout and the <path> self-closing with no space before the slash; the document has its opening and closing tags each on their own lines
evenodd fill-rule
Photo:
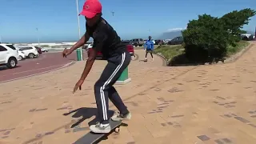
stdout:
<svg viewBox="0 0 256 144">
<path fill-rule="evenodd" d="M 98 134 L 106 134 L 106 133 L 110 133 L 111 128 L 109 123 L 101 124 L 100 122 L 97 122 L 96 125 L 90 126 L 90 131 Z"/>
</svg>

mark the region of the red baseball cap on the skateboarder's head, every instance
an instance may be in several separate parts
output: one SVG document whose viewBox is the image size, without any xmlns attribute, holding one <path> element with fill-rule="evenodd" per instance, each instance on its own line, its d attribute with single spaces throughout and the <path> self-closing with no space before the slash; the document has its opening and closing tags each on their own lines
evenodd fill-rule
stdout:
<svg viewBox="0 0 256 144">
<path fill-rule="evenodd" d="M 86 18 L 94 18 L 94 16 L 99 13 L 102 13 L 101 2 L 98 0 L 86 0 L 80 14 L 84 15 Z"/>
</svg>

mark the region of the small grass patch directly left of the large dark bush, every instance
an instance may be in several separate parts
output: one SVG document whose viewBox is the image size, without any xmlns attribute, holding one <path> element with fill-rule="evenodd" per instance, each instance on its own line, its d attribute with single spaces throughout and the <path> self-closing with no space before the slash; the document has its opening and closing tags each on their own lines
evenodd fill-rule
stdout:
<svg viewBox="0 0 256 144">
<path fill-rule="evenodd" d="M 182 45 L 163 45 L 155 49 L 154 53 L 161 54 L 168 61 L 170 61 L 171 58 L 174 58 L 179 54 L 183 54 L 184 48 L 182 47 Z"/>
</svg>

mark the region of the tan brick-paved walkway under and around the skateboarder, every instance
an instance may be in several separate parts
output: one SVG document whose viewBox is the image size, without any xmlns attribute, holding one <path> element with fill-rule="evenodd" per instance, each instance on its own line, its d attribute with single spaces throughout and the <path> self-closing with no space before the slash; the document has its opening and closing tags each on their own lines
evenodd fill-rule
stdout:
<svg viewBox="0 0 256 144">
<path fill-rule="evenodd" d="M 144 58 L 142 50 L 136 53 Z M 70 144 L 85 135 L 96 113 L 92 88 L 106 62 L 97 61 L 82 90 L 71 94 L 84 63 L 0 84 L 0 143 Z M 131 62 L 132 82 L 117 89 L 132 119 L 102 143 L 254 144 L 255 63 L 256 46 L 224 65 Z M 77 111 L 62 115 L 70 110 Z"/>
</svg>

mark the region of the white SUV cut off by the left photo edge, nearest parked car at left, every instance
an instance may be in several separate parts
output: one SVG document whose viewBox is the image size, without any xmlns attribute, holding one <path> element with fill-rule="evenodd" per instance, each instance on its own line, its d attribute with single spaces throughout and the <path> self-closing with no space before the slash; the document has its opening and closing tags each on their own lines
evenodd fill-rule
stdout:
<svg viewBox="0 0 256 144">
<path fill-rule="evenodd" d="M 0 44 L 0 65 L 14 68 L 18 64 L 18 50 L 11 44 Z"/>
</svg>

